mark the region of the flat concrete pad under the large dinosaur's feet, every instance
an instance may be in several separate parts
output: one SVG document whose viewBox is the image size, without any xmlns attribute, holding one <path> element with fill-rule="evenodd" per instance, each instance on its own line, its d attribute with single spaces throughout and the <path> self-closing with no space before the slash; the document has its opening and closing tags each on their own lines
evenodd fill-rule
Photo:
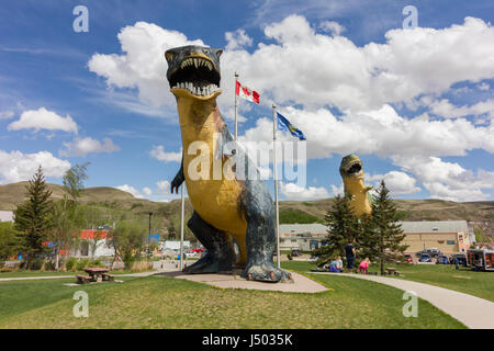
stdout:
<svg viewBox="0 0 494 351">
<path fill-rule="evenodd" d="M 291 272 L 293 282 L 281 283 L 263 283 L 247 281 L 238 275 L 233 274 L 183 274 L 182 272 L 164 272 L 156 274 L 157 276 L 171 276 L 177 279 L 186 279 L 193 282 L 205 283 L 222 288 L 246 288 L 262 290 L 284 293 L 321 293 L 328 288 L 314 282 L 313 280 Z"/>
</svg>

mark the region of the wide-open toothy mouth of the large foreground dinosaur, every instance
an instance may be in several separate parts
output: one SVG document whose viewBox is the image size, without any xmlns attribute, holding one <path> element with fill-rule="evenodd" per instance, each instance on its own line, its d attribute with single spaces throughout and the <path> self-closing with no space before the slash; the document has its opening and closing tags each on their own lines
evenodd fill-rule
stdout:
<svg viewBox="0 0 494 351">
<path fill-rule="evenodd" d="M 220 72 L 213 61 L 190 56 L 170 76 L 171 89 L 187 89 L 197 97 L 209 97 L 220 89 Z"/>
</svg>

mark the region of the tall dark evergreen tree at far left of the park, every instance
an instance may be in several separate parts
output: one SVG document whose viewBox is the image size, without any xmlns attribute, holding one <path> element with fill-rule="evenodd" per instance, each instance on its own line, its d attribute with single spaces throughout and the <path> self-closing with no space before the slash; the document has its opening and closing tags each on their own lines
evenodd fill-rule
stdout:
<svg viewBox="0 0 494 351">
<path fill-rule="evenodd" d="M 52 191 L 48 189 L 40 166 L 33 179 L 26 185 L 24 203 L 14 211 L 14 228 L 22 233 L 22 248 L 26 257 L 27 268 L 32 267 L 36 254 L 45 251 L 43 242 L 46 241 L 49 230 L 53 228 L 53 202 L 49 199 Z"/>
</svg>

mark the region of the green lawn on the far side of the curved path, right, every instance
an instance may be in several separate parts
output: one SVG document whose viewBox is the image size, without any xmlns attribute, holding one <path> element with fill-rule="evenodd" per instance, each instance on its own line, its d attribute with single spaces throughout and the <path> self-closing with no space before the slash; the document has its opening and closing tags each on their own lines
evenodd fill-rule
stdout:
<svg viewBox="0 0 494 351">
<path fill-rule="evenodd" d="M 308 272 L 315 268 L 306 261 L 290 261 L 287 267 Z M 456 270 L 449 264 L 389 264 L 396 268 L 404 276 L 393 276 L 414 282 L 427 283 L 461 293 L 474 295 L 494 302 L 494 272 L 475 272 L 469 268 Z M 378 272 L 378 265 L 371 265 L 369 272 Z M 386 275 L 389 276 L 389 275 Z"/>
</svg>

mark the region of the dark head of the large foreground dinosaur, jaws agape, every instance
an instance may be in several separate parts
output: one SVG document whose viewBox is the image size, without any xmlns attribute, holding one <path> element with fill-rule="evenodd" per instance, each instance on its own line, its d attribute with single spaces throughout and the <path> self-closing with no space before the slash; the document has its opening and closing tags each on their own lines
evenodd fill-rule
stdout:
<svg viewBox="0 0 494 351">
<path fill-rule="evenodd" d="M 197 45 L 170 48 L 165 53 L 167 79 L 177 98 L 214 99 L 220 90 L 220 48 Z"/>
</svg>

